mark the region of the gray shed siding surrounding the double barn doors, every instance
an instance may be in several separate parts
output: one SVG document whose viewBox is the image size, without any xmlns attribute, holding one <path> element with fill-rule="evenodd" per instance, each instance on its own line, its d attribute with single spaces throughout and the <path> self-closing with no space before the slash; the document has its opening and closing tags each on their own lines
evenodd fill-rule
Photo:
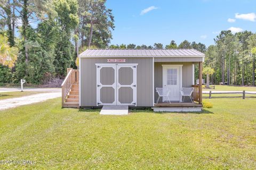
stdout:
<svg viewBox="0 0 256 170">
<path fill-rule="evenodd" d="M 115 57 L 116 58 L 116 57 Z M 81 58 L 81 106 L 97 104 L 97 63 L 107 63 L 109 58 Z M 124 58 L 125 63 L 137 63 L 137 106 L 153 105 L 153 58 Z M 110 64 L 110 63 L 109 63 Z M 122 63 L 120 63 L 122 64 Z"/>
</svg>

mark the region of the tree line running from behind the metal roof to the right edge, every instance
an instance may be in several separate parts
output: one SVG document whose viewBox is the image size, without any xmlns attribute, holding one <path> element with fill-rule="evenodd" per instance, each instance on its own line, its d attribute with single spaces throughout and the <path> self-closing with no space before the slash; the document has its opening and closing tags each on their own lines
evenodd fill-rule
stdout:
<svg viewBox="0 0 256 170">
<path fill-rule="evenodd" d="M 174 40 L 165 49 L 196 49 L 205 54 L 203 77 L 210 79 L 212 84 L 227 84 L 236 86 L 255 86 L 255 56 L 256 33 L 243 31 L 232 33 L 223 30 L 214 38 L 214 45 L 206 46 L 202 43 L 182 41 L 179 45 Z M 135 44 L 110 45 L 109 48 L 131 49 L 163 49 L 161 43 L 153 46 Z M 198 75 L 197 65 L 195 75 Z"/>
</svg>

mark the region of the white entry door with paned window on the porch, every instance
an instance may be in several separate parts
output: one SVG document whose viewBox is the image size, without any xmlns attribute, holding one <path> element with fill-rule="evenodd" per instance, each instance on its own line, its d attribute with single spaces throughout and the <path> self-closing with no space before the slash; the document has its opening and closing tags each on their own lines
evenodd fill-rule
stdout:
<svg viewBox="0 0 256 170">
<path fill-rule="evenodd" d="M 180 90 L 182 87 L 182 65 L 162 65 L 163 66 L 163 88 L 170 90 L 169 99 L 171 101 L 180 100 Z M 167 97 L 163 97 L 167 101 Z"/>
</svg>

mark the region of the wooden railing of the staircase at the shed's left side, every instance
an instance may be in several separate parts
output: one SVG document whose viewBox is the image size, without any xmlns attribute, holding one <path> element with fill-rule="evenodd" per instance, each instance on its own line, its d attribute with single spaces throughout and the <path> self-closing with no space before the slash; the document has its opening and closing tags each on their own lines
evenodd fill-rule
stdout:
<svg viewBox="0 0 256 170">
<path fill-rule="evenodd" d="M 73 84 L 78 84 L 79 82 L 79 74 L 78 70 L 67 68 L 67 76 L 63 83 L 61 84 L 61 104 L 65 103 L 65 99 L 72 88 Z"/>
</svg>

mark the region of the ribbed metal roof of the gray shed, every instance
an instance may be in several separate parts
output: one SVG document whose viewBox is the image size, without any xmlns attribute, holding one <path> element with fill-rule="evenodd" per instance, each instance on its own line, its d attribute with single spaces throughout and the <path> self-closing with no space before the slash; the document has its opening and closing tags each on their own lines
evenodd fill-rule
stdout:
<svg viewBox="0 0 256 170">
<path fill-rule="evenodd" d="M 204 57 L 195 49 L 86 49 L 79 57 Z"/>
</svg>

